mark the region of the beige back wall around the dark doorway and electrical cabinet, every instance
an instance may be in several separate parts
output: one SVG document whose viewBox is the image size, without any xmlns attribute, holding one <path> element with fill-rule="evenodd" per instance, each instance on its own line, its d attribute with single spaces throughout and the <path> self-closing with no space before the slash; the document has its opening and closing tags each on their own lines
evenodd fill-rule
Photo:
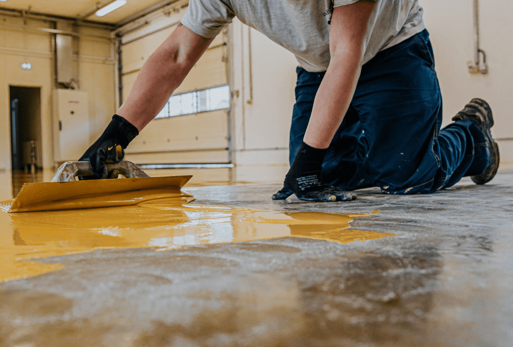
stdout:
<svg viewBox="0 0 513 347">
<path fill-rule="evenodd" d="M 26 20 L 27 27 L 51 28 L 51 23 Z M 14 25 L 14 26 L 11 26 Z M 89 92 L 91 138 L 97 137 L 112 114 L 114 69 L 110 31 L 78 28 L 81 35 L 79 55 L 81 89 Z M 94 38 L 87 35 L 104 36 Z M 41 150 L 45 168 L 52 167 L 52 89 L 53 57 L 51 34 L 24 28 L 21 18 L 0 16 L 0 169 L 10 169 L 9 85 L 41 88 Z M 21 64 L 32 64 L 23 70 Z"/>
</svg>

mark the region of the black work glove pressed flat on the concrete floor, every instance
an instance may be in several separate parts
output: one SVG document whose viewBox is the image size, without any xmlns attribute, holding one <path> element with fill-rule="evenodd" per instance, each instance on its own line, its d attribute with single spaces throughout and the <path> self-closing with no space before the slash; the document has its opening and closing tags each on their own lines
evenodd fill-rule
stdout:
<svg viewBox="0 0 513 347">
<path fill-rule="evenodd" d="M 349 201 L 356 194 L 346 192 L 322 182 L 321 169 L 327 149 L 313 148 L 301 143 L 298 154 L 285 176 L 283 188 L 272 196 L 273 200 L 283 200 L 295 194 L 305 201 Z"/>
</svg>

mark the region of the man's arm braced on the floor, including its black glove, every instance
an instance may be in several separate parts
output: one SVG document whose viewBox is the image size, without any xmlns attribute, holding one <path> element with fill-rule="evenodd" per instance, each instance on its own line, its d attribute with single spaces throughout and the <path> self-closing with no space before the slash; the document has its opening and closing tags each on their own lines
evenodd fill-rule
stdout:
<svg viewBox="0 0 513 347">
<path fill-rule="evenodd" d="M 330 63 L 315 95 L 303 143 L 274 200 L 294 193 L 307 201 L 352 200 L 356 195 L 322 181 L 322 164 L 327 148 L 349 107 L 360 77 L 364 55 L 363 39 L 374 1 L 359 1 L 336 7 L 329 32 Z"/>
</svg>

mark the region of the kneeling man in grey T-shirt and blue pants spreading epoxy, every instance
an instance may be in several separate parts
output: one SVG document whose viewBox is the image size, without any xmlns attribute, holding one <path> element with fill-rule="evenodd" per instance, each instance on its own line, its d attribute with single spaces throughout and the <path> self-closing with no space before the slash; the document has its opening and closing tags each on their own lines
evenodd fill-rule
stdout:
<svg viewBox="0 0 513 347">
<path fill-rule="evenodd" d="M 418 0 L 190 0 L 181 25 L 143 66 L 129 97 L 81 160 L 105 161 L 166 104 L 237 16 L 298 59 L 290 164 L 273 199 L 351 200 L 348 191 L 431 193 L 499 165 L 491 110 L 472 99 L 440 130 L 442 98 Z M 329 184 L 328 184 L 329 183 Z"/>
</svg>

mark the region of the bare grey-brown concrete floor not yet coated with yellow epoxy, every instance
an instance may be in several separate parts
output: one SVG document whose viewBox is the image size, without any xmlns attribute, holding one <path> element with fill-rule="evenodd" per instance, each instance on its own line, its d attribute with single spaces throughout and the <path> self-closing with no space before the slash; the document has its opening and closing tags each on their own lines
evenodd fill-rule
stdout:
<svg viewBox="0 0 513 347">
<path fill-rule="evenodd" d="M 289 227 L 273 239 L 41 258 L 60 265 L 0 283 L 0 346 L 513 345 L 513 171 L 351 202 L 272 201 L 279 188 L 185 190 L 192 205 L 336 213 L 340 233 L 387 236 L 324 241 Z M 8 224 L 15 246 L 34 241 Z"/>
</svg>

